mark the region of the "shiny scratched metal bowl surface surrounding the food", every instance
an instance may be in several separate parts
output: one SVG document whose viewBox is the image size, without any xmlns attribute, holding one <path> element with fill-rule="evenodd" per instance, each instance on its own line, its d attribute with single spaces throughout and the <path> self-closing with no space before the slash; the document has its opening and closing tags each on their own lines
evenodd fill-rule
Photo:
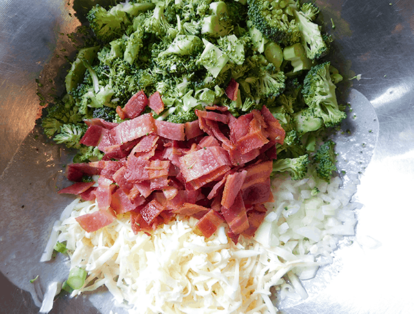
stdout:
<svg viewBox="0 0 414 314">
<path fill-rule="evenodd" d="M 414 3 L 316 2 L 326 28 L 331 17 L 335 23 L 335 65 L 346 78 L 362 74 L 343 86 L 353 88 L 342 98 L 353 108 L 344 129 L 355 137 L 339 138 L 339 149 L 346 156 L 342 169 L 361 172 L 354 198 L 363 207 L 353 243 L 345 241 L 333 266 L 305 282 L 308 299 L 279 307 L 286 314 L 412 313 Z M 72 42 L 61 34 L 79 25 L 69 15 L 75 13 L 71 6 L 62 0 L 0 0 L 0 313 L 37 313 L 48 279 L 67 275 L 57 262 L 37 262 L 52 222 L 70 201 L 55 194 L 65 184 L 61 165 L 70 151 L 50 145 L 34 127 L 34 79 L 62 72 Z M 110 298 L 104 296 L 61 298 L 51 313 L 108 313 Z"/>
</svg>

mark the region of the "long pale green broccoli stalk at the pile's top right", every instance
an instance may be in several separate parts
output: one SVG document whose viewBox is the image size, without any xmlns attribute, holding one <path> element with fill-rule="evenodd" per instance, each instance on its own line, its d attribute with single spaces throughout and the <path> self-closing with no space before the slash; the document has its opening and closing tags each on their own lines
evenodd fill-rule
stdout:
<svg viewBox="0 0 414 314">
<path fill-rule="evenodd" d="M 320 26 L 315 24 L 310 18 L 313 17 L 315 12 L 309 8 L 315 7 L 309 4 L 305 7 L 305 12 L 295 10 L 295 19 L 301 33 L 301 43 L 306 51 L 306 56 L 309 59 L 320 59 L 328 53 L 329 48 L 321 33 Z M 317 9 L 315 8 L 315 10 Z"/>
</svg>

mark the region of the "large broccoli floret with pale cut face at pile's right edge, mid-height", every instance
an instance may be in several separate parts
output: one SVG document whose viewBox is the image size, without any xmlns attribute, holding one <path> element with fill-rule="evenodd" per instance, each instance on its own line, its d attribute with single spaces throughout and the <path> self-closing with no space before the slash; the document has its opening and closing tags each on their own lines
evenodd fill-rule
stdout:
<svg viewBox="0 0 414 314">
<path fill-rule="evenodd" d="M 329 74 L 330 66 L 331 62 L 313 66 L 305 77 L 302 89 L 304 101 L 315 116 L 324 120 L 326 127 L 333 127 L 346 118 L 346 113 L 340 111 L 337 104 L 336 86 Z"/>
</svg>

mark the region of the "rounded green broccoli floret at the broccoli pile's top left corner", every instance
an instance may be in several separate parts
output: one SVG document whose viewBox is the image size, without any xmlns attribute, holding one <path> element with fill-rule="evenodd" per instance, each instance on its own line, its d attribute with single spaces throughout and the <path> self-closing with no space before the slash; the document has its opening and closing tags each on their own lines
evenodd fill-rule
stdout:
<svg viewBox="0 0 414 314">
<path fill-rule="evenodd" d="M 109 42 L 124 35 L 126 28 L 132 25 L 126 12 L 122 10 L 106 10 L 97 4 L 86 15 L 90 28 L 95 33 L 97 39 Z"/>
</svg>

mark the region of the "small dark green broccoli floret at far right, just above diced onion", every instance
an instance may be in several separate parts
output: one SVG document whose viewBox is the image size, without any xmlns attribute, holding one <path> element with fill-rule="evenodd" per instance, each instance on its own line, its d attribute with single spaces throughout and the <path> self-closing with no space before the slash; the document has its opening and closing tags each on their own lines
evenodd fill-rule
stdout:
<svg viewBox="0 0 414 314">
<path fill-rule="evenodd" d="M 337 154 L 335 153 L 335 142 L 328 140 L 316 151 L 313 160 L 316 164 L 316 173 L 319 178 L 331 182 L 333 173 L 337 171 Z"/>
</svg>

